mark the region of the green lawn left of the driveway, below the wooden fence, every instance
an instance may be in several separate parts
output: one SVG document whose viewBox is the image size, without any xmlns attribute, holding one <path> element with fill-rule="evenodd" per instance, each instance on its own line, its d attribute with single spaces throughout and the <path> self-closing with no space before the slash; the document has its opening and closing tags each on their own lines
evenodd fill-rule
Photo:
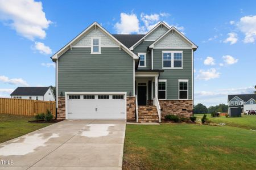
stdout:
<svg viewBox="0 0 256 170">
<path fill-rule="evenodd" d="M 0 143 L 51 125 L 30 123 L 30 120 L 34 117 L 0 114 Z"/>
</svg>

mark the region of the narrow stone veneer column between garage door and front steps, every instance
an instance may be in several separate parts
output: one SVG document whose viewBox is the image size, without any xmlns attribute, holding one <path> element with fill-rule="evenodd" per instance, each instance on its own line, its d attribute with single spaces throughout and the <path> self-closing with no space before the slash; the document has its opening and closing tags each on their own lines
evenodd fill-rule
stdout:
<svg viewBox="0 0 256 170">
<path fill-rule="evenodd" d="M 127 97 L 126 98 L 126 118 L 127 121 L 135 121 L 135 97 Z"/>
</svg>

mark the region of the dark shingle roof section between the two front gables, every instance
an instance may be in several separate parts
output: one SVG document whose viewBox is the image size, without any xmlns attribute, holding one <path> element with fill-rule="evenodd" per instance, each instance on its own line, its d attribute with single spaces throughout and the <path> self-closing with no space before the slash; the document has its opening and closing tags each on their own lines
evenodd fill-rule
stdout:
<svg viewBox="0 0 256 170">
<path fill-rule="evenodd" d="M 130 48 L 133 46 L 137 41 L 141 40 L 142 37 L 144 37 L 143 34 L 132 34 L 132 35 L 127 35 L 127 34 L 113 34 L 115 39 L 118 41 L 122 42 L 123 45 L 125 45 L 127 48 Z"/>
</svg>

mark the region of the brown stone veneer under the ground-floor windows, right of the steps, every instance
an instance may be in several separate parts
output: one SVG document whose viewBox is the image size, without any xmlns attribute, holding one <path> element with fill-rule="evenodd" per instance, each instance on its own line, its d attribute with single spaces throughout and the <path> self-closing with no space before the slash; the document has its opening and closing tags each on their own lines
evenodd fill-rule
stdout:
<svg viewBox="0 0 256 170">
<path fill-rule="evenodd" d="M 159 104 L 161 119 L 164 119 L 167 114 L 174 114 L 179 117 L 191 117 L 193 115 L 193 100 L 159 100 Z"/>
</svg>

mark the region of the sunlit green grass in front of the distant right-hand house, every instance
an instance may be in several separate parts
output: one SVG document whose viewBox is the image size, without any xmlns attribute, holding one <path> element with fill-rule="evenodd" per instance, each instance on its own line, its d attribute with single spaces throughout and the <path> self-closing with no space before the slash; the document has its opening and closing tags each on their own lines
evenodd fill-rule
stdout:
<svg viewBox="0 0 256 170">
<path fill-rule="evenodd" d="M 197 118 L 201 118 L 203 115 L 204 114 L 195 114 Z M 242 117 L 212 117 L 210 114 L 207 114 L 207 117 L 211 122 L 216 124 L 225 123 L 228 126 L 256 130 L 256 115 L 242 115 Z"/>
</svg>

